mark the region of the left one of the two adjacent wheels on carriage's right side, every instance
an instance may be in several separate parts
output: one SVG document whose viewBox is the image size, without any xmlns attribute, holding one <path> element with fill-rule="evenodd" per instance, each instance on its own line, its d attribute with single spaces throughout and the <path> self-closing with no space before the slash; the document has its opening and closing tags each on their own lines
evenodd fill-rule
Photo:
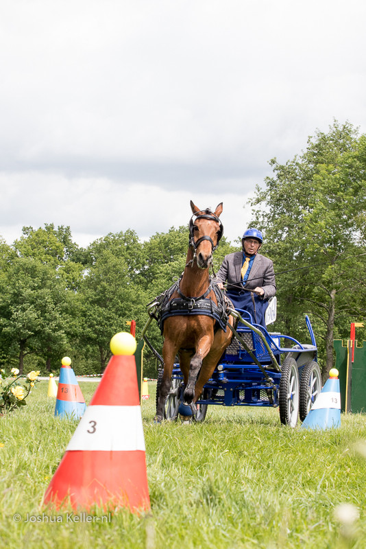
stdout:
<svg viewBox="0 0 366 549">
<path fill-rule="evenodd" d="M 281 368 L 280 420 L 290 427 L 295 427 L 299 415 L 299 385 L 296 360 L 286 358 Z"/>
</svg>

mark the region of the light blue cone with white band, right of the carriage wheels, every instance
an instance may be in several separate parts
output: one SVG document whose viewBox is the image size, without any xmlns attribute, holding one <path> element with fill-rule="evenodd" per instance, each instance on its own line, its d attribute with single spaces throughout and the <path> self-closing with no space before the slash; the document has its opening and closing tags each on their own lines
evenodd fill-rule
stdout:
<svg viewBox="0 0 366 549">
<path fill-rule="evenodd" d="M 304 429 L 330 429 L 341 427 L 341 390 L 338 370 L 332 368 L 329 379 L 302 423 Z"/>
</svg>

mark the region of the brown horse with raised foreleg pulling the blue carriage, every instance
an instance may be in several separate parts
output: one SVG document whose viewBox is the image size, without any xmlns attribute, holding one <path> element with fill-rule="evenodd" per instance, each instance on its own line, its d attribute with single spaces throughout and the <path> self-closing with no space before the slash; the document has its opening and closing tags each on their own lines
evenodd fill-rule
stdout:
<svg viewBox="0 0 366 549">
<path fill-rule="evenodd" d="M 193 215 L 189 222 L 190 240 L 186 266 L 170 300 L 183 299 L 191 302 L 191 305 L 201 300 L 202 306 L 212 300 L 217 305 L 209 269 L 212 265 L 212 253 L 217 249 L 223 234 L 223 225 L 219 220 L 223 204 L 221 202 L 215 212 L 212 212 L 210 209 L 200 210 L 191 200 L 191 209 Z M 197 314 L 197 309 L 195 314 L 177 314 L 165 318 L 162 332 L 164 370 L 156 408 L 157 423 L 164 419 L 164 404 L 171 387 L 171 373 L 176 355 L 179 357 L 184 379 L 184 404 L 188 404 L 195 414 L 195 403 L 232 339 L 232 331 L 215 329 L 215 322 L 215 318 L 208 314 Z M 231 315 L 228 316 L 228 322 L 230 325 L 234 324 Z"/>
</svg>

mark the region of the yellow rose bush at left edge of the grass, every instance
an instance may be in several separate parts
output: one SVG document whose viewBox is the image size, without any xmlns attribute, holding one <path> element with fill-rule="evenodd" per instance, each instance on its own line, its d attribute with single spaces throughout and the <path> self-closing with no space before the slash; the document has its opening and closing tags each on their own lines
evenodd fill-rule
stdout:
<svg viewBox="0 0 366 549">
<path fill-rule="evenodd" d="M 12 368 L 9 375 L 5 369 L 0 370 L 0 414 L 11 412 L 25 406 L 25 399 L 34 384 L 38 382 L 39 371 L 19 374 L 19 369 Z"/>
</svg>

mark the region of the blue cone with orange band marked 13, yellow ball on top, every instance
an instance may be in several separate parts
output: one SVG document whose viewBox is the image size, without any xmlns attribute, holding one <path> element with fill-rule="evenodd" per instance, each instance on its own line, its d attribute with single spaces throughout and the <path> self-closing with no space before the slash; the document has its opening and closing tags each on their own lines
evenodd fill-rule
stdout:
<svg viewBox="0 0 366 549">
<path fill-rule="evenodd" d="M 55 415 L 58 417 L 73 417 L 80 419 L 86 410 L 85 399 L 73 369 L 71 360 L 65 356 L 62 358 L 60 379 L 56 396 Z"/>
</svg>

